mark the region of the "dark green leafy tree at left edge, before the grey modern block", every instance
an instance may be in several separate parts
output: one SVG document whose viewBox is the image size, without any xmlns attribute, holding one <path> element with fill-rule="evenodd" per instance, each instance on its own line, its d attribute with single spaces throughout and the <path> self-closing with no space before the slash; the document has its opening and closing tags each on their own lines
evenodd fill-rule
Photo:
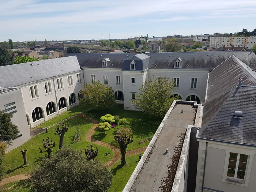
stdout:
<svg viewBox="0 0 256 192">
<path fill-rule="evenodd" d="M 0 111 L 0 141 L 5 142 L 8 146 L 12 144 L 12 140 L 16 139 L 19 129 L 11 122 L 12 114 L 2 113 Z"/>
</svg>

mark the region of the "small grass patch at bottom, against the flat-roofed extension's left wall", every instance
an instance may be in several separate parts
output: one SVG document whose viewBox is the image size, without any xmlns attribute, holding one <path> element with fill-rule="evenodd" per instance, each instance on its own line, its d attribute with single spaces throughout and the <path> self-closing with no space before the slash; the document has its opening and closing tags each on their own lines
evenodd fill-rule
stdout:
<svg viewBox="0 0 256 192">
<path fill-rule="evenodd" d="M 143 154 L 142 154 L 143 155 Z M 127 165 L 121 166 L 121 161 L 114 163 L 110 167 L 113 173 L 112 186 L 108 192 L 122 192 L 129 178 L 131 177 L 135 167 L 139 162 L 139 154 L 131 155 L 126 158 Z"/>
</svg>

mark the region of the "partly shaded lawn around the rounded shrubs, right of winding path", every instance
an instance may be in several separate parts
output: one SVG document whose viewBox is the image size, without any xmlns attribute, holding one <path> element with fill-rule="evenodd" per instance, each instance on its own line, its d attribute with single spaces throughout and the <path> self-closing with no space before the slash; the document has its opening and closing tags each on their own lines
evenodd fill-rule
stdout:
<svg viewBox="0 0 256 192">
<path fill-rule="evenodd" d="M 150 141 L 147 141 L 145 143 L 139 144 L 139 142 L 148 140 L 153 138 L 155 131 L 157 131 L 157 128 L 160 125 L 160 121 L 153 121 L 152 118 L 149 118 L 147 115 L 143 114 L 142 112 L 138 111 L 131 111 L 131 110 L 124 110 L 123 105 L 117 105 L 117 107 L 113 110 L 105 110 L 105 111 L 93 111 L 90 113 L 87 113 L 87 115 L 97 119 L 99 121 L 99 118 L 105 114 L 112 114 L 112 115 L 118 115 L 120 118 L 127 117 L 129 118 L 129 121 L 131 122 L 130 128 L 133 132 L 133 142 L 128 145 L 128 150 L 133 150 L 136 148 L 147 146 Z M 106 131 L 104 133 L 104 130 L 98 129 L 93 134 L 93 138 L 97 140 L 101 140 L 106 143 L 113 144 L 114 146 L 118 147 L 118 144 L 114 140 L 114 135 L 119 129 L 121 125 L 118 125 L 117 127 L 111 128 L 109 131 Z"/>
</svg>

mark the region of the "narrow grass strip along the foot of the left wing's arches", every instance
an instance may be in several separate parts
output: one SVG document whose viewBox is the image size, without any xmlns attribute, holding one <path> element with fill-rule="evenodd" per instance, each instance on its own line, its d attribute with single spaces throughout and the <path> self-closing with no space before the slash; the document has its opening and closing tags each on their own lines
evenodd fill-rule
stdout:
<svg viewBox="0 0 256 192">
<path fill-rule="evenodd" d="M 71 117 L 75 114 L 78 114 L 80 112 L 83 112 L 83 107 L 81 105 L 75 106 L 74 108 L 69 109 L 64 113 L 61 113 L 60 115 L 57 115 L 56 117 L 54 117 L 54 118 L 52 118 L 48 121 L 45 121 L 44 123 L 38 125 L 35 128 L 45 128 L 45 127 L 48 127 L 50 125 L 54 125 L 56 123 L 59 123 L 60 121 L 63 121 L 64 119 L 66 119 L 68 117 Z"/>
</svg>

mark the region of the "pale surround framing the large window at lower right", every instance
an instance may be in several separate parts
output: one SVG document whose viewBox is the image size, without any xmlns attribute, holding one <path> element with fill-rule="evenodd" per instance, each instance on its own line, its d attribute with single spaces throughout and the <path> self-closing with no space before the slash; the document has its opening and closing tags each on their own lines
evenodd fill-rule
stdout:
<svg viewBox="0 0 256 192">
<path fill-rule="evenodd" d="M 239 147 L 242 147 L 242 146 L 239 146 Z M 245 178 L 243 180 L 227 176 L 227 168 L 229 166 L 230 153 L 248 155 L 246 169 L 245 169 Z M 250 180 L 250 175 L 251 175 L 251 170 L 252 170 L 252 162 L 253 162 L 254 154 L 255 154 L 255 150 L 227 146 L 226 147 L 226 157 L 225 157 L 225 165 L 224 165 L 222 182 L 248 187 L 249 180 Z"/>
</svg>

